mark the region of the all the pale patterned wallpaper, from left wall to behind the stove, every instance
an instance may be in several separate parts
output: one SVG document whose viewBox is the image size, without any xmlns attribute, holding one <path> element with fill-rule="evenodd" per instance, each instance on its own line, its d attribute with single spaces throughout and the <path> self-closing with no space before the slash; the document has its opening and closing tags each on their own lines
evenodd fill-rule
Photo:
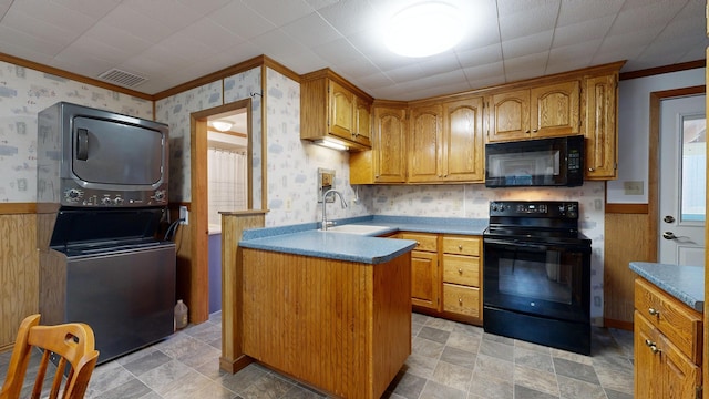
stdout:
<svg viewBox="0 0 709 399">
<path fill-rule="evenodd" d="M 300 140 L 299 84 L 270 69 L 265 79 L 266 93 L 260 93 L 260 68 L 255 68 L 156 102 L 155 120 L 171 127 L 171 201 L 191 201 L 189 114 L 250 98 L 254 204 L 261 197 L 261 103 L 267 105 L 267 226 L 320 221 L 318 167 L 335 170 L 336 188 L 347 198 L 347 208 L 338 202 L 328 204 L 332 219 L 373 214 L 486 218 L 493 200 L 579 201 L 582 231 L 593 239 L 592 317 L 603 316 L 603 182 L 548 190 L 493 190 L 480 184 L 351 186 L 348 153 Z M 0 176 L 1 202 L 35 201 L 37 113 L 58 101 L 153 119 L 151 102 L 0 62 L 0 167 L 10 171 Z"/>
</svg>

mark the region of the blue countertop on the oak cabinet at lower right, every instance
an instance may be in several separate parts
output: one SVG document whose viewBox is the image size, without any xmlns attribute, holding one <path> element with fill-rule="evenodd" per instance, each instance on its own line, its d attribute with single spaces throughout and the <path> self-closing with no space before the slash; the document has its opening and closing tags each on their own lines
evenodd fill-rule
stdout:
<svg viewBox="0 0 709 399">
<path fill-rule="evenodd" d="M 630 262 L 630 270 L 655 284 L 695 310 L 705 307 L 705 269 L 649 262 Z"/>
</svg>

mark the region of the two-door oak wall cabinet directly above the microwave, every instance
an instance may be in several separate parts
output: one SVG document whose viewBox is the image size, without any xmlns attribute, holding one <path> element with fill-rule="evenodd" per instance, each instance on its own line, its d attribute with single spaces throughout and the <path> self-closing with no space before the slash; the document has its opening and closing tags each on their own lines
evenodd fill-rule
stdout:
<svg viewBox="0 0 709 399">
<path fill-rule="evenodd" d="M 490 95 L 486 141 L 574 135 L 580 133 L 580 82 L 502 90 Z"/>
</svg>

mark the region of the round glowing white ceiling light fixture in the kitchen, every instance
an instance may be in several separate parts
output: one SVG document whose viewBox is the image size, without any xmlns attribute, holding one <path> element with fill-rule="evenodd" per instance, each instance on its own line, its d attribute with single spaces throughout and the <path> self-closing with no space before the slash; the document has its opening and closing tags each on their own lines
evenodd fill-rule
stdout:
<svg viewBox="0 0 709 399">
<path fill-rule="evenodd" d="M 440 1 L 410 6 L 390 20 L 387 47 L 399 55 L 429 57 L 453 48 L 463 39 L 461 12 Z"/>
</svg>

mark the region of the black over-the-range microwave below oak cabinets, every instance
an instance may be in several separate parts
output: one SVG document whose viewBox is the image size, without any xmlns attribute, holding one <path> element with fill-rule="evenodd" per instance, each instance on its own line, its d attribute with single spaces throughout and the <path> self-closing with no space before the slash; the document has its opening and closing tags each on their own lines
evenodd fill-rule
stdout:
<svg viewBox="0 0 709 399">
<path fill-rule="evenodd" d="M 584 184 L 584 136 L 485 144 L 485 186 Z"/>
</svg>

